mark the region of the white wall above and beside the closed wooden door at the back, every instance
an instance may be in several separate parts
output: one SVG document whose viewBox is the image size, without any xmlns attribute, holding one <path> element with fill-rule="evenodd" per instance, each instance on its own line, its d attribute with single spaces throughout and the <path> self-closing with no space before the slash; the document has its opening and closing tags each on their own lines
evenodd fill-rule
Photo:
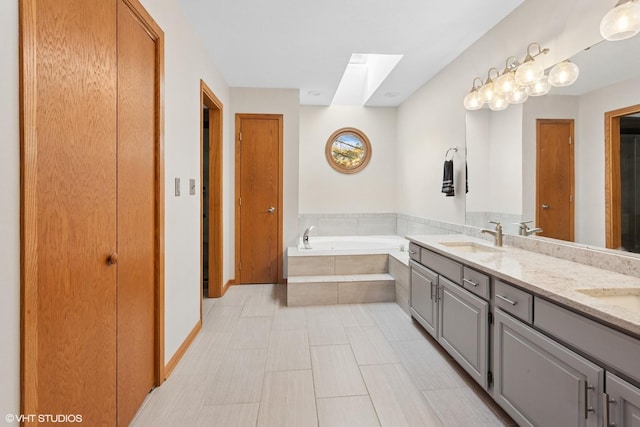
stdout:
<svg viewBox="0 0 640 427">
<path fill-rule="evenodd" d="M 284 131 L 284 212 L 283 212 L 283 250 L 295 246 L 298 239 L 298 146 L 300 140 L 300 94 L 297 89 L 248 89 L 231 88 L 230 120 L 235 135 L 235 115 L 282 114 Z M 235 151 L 230 151 L 225 160 L 235 165 Z M 229 170 L 231 185 L 235 182 L 235 166 Z M 226 176 L 226 175 L 225 175 Z M 230 218 L 235 215 L 235 205 L 230 204 Z M 233 229 L 233 221 L 229 227 Z M 233 257 L 233 252 L 229 253 Z M 286 262 L 285 262 L 286 267 Z M 285 271 L 286 275 L 286 271 Z"/>
</svg>

